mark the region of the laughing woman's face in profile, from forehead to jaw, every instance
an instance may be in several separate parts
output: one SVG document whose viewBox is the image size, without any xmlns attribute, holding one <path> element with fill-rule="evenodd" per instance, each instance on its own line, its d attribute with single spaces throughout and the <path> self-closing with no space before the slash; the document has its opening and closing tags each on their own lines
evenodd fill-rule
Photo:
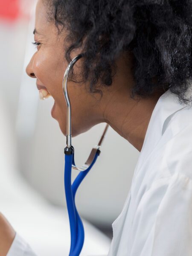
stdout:
<svg viewBox="0 0 192 256">
<path fill-rule="evenodd" d="M 64 58 L 64 39 L 67 35 L 63 31 L 58 35 L 54 22 L 47 21 L 47 7 L 43 0 L 38 0 L 35 15 L 34 39 L 37 51 L 32 56 L 26 72 L 37 79 L 38 87 L 45 87 L 55 100 L 52 108 L 52 117 L 59 123 L 61 131 L 66 135 L 66 102 L 62 89 L 62 79 L 68 66 Z M 73 52 L 72 58 L 78 55 L 81 49 Z M 77 61 L 74 71 L 78 72 L 81 60 Z M 96 94 L 88 92 L 88 84 L 78 84 L 68 81 L 68 94 L 72 106 L 72 136 L 89 130 L 101 118 L 99 99 Z"/>
</svg>

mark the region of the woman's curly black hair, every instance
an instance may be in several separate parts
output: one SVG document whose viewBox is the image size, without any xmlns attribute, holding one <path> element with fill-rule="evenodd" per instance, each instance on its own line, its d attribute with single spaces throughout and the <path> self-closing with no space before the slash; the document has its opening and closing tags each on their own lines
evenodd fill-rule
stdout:
<svg viewBox="0 0 192 256">
<path fill-rule="evenodd" d="M 192 0 L 51 0 L 49 18 L 67 29 L 70 46 L 82 47 L 83 81 L 90 92 L 98 80 L 110 86 L 116 58 L 133 56 L 132 95 L 150 96 L 170 88 L 180 102 L 192 78 Z M 126 55 L 125 55 L 126 56 Z"/>
</svg>

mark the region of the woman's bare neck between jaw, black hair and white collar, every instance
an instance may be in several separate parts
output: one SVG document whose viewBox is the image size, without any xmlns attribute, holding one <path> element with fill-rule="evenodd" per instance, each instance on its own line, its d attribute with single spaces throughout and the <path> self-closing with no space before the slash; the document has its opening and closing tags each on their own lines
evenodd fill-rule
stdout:
<svg viewBox="0 0 192 256">
<path fill-rule="evenodd" d="M 131 87 L 135 81 L 122 61 L 118 65 L 120 67 L 112 86 L 103 94 L 103 118 L 119 135 L 141 151 L 151 114 L 163 93 L 132 99 Z"/>
</svg>

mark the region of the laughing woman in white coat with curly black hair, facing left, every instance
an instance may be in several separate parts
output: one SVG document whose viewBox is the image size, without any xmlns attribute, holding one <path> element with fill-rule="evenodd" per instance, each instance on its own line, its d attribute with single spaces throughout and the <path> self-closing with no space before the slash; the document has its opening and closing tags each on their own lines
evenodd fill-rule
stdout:
<svg viewBox="0 0 192 256">
<path fill-rule="evenodd" d="M 26 72 L 55 99 L 63 134 L 62 79 L 83 52 L 68 86 L 72 136 L 107 122 L 140 151 L 108 256 L 192 255 L 191 13 L 189 0 L 38 0 Z M 2 255 L 35 255 L 1 219 Z"/>
</svg>

